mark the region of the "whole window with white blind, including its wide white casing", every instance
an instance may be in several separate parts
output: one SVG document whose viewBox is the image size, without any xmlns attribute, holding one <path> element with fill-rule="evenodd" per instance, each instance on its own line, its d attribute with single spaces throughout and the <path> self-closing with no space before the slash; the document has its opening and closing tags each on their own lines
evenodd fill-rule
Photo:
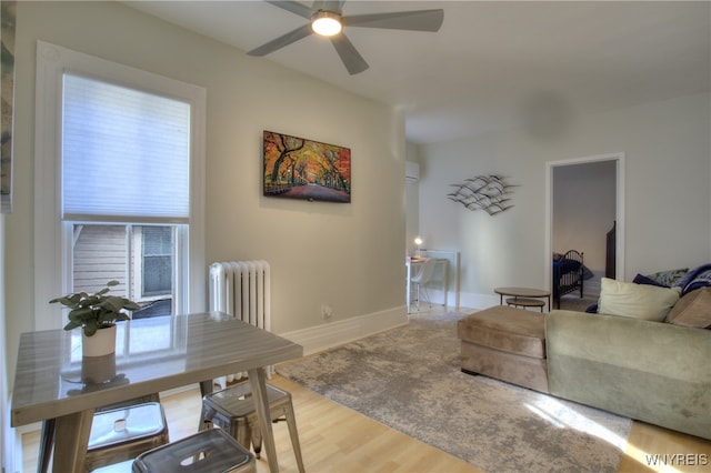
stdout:
<svg viewBox="0 0 711 473">
<path fill-rule="evenodd" d="M 111 289 L 133 316 L 206 305 L 207 90 L 37 41 L 34 324 L 58 293 Z"/>
</svg>

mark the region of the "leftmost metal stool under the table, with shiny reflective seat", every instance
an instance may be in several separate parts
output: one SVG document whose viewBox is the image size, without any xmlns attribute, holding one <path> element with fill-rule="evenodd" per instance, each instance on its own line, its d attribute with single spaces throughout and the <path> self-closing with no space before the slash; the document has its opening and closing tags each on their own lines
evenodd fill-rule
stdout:
<svg viewBox="0 0 711 473">
<path fill-rule="evenodd" d="M 134 459 L 169 441 L 166 414 L 158 402 L 96 412 L 87 447 L 87 470 Z"/>
</svg>

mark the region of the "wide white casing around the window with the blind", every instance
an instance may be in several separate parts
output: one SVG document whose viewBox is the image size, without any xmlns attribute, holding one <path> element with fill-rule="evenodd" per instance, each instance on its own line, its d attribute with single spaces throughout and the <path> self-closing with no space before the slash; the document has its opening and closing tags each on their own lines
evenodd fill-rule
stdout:
<svg viewBox="0 0 711 473">
<path fill-rule="evenodd" d="M 37 42 L 34 134 L 34 326 L 63 325 L 61 308 L 48 302 L 70 291 L 71 225 L 61 220 L 61 115 L 62 78 L 71 71 L 110 83 L 174 97 L 191 104 L 190 219 L 177 268 L 183 278 L 176 294 L 177 306 L 201 312 L 206 306 L 204 263 L 204 88 L 84 54 L 44 41 Z M 118 223 L 118 222 L 117 222 Z M 137 221 L 134 223 L 141 223 Z M 69 234 L 68 234 L 69 233 Z M 187 268 L 186 268 L 187 266 Z"/>
</svg>

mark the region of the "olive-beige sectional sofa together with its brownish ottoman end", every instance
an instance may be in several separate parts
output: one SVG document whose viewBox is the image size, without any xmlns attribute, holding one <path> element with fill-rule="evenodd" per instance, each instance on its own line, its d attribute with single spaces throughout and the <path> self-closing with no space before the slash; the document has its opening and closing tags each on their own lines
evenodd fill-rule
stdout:
<svg viewBox="0 0 711 473">
<path fill-rule="evenodd" d="M 489 308 L 459 321 L 462 371 L 711 440 L 711 288 L 674 305 L 654 320 Z"/>
</svg>

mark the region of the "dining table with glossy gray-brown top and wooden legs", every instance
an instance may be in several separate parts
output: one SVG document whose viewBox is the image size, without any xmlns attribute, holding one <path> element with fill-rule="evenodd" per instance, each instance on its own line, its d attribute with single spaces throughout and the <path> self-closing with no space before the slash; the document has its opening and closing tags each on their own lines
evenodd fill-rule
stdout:
<svg viewBox="0 0 711 473">
<path fill-rule="evenodd" d="M 158 336 L 157 336 L 158 335 Z M 264 366 L 299 358 L 303 348 L 221 312 L 119 323 L 116 355 L 83 363 L 78 330 L 20 335 L 11 425 L 56 422 L 53 471 L 82 472 L 96 407 L 247 371 L 269 470 L 279 471 Z M 84 382 L 90 364 L 111 378 Z"/>
</svg>

